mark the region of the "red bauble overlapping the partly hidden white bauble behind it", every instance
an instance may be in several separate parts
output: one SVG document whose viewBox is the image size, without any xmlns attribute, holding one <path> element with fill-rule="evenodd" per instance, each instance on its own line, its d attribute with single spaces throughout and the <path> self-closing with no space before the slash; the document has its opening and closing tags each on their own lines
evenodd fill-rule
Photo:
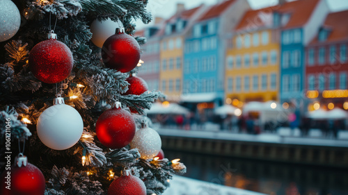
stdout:
<svg viewBox="0 0 348 195">
<path fill-rule="evenodd" d="M 134 37 L 125 34 L 125 28 L 116 28 L 116 34 L 103 44 L 102 59 L 108 68 L 131 71 L 139 63 L 140 46 Z"/>
</svg>

